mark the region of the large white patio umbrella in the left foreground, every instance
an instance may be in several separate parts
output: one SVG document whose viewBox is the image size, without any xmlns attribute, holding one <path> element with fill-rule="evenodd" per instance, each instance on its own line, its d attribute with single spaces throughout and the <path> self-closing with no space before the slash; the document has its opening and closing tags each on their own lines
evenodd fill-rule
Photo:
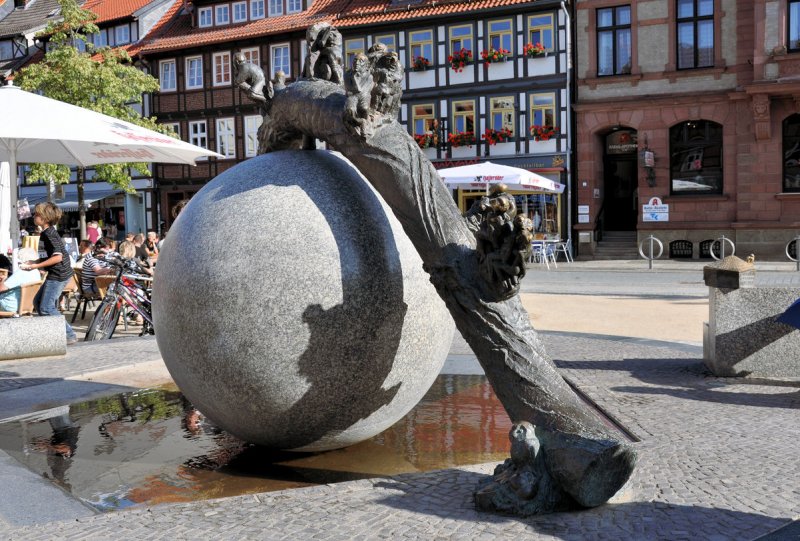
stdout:
<svg viewBox="0 0 800 541">
<path fill-rule="evenodd" d="M 17 201 L 18 163 L 88 167 L 102 163 L 156 162 L 195 165 L 223 156 L 130 122 L 25 92 L 0 87 L 0 161 L 9 162 L 11 204 Z M 11 220 L 12 239 L 19 222 Z M 1 225 L 1 224 L 0 224 Z"/>
</svg>

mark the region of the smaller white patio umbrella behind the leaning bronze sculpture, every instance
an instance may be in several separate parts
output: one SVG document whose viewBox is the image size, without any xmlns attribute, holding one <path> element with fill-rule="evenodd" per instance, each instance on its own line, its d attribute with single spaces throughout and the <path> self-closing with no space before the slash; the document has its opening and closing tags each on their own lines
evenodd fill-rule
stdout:
<svg viewBox="0 0 800 541">
<path fill-rule="evenodd" d="M 439 176 L 448 188 L 486 190 L 503 183 L 509 190 L 563 193 L 564 185 L 527 169 L 492 162 L 439 169 Z"/>
</svg>

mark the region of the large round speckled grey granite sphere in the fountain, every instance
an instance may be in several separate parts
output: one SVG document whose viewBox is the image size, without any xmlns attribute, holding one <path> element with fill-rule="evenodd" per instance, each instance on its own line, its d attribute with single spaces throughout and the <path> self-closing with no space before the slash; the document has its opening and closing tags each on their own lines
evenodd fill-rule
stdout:
<svg viewBox="0 0 800 541">
<path fill-rule="evenodd" d="M 153 283 L 170 374 L 215 424 L 322 451 L 385 430 L 425 394 L 453 322 L 383 199 L 341 155 L 225 171 L 169 231 Z"/>
</svg>

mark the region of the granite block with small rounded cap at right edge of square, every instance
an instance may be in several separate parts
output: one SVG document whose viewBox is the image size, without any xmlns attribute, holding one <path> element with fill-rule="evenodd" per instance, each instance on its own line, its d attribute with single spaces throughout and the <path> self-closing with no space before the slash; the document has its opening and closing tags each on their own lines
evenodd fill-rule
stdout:
<svg viewBox="0 0 800 541">
<path fill-rule="evenodd" d="M 800 288 L 756 287 L 755 269 L 736 256 L 703 268 L 708 323 L 703 328 L 703 362 L 723 377 L 800 376 L 800 333 L 775 321 Z"/>
</svg>

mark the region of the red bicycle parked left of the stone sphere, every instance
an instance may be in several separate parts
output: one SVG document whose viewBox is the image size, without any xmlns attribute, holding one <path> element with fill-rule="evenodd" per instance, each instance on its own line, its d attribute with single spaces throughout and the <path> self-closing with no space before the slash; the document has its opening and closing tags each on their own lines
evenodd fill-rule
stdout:
<svg viewBox="0 0 800 541">
<path fill-rule="evenodd" d="M 125 306 L 142 316 L 142 332 L 139 336 L 155 334 L 150 305 L 151 289 L 144 285 L 153 279 L 141 274 L 141 268 L 133 259 L 109 257 L 106 262 L 117 268 L 117 274 L 108 285 L 100 306 L 95 310 L 84 341 L 110 339 Z"/>
</svg>

